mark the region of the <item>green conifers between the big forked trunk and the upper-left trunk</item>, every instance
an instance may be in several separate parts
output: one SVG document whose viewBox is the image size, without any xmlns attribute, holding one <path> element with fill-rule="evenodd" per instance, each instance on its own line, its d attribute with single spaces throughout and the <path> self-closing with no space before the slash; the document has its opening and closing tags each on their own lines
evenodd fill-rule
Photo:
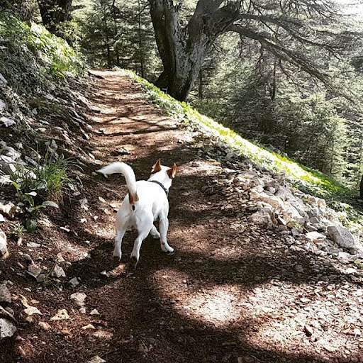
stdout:
<svg viewBox="0 0 363 363">
<path fill-rule="evenodd" d="M 91 64 L 134 69 L 151 78 L 160 71 L 147 0 L 82 4 L 73 16 L 82 29 L 82 51 Z"/>
</svg>

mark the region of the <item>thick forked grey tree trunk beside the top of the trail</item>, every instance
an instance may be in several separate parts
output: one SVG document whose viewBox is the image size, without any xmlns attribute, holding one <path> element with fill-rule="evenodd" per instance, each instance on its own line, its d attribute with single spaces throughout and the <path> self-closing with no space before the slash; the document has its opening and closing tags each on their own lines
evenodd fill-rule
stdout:
<svg viewBox="0 0 363 363">
<path fill-rule="evenodd" d="M 186 27 L 179 23 L 179 5 L 172 0 L 149 0 L 152 25 L 164 70 L 155 85 L 184 101 L 198 78 L 217 36 L 238 16 L 223 0 L 199 0 Z"/>
</svg>

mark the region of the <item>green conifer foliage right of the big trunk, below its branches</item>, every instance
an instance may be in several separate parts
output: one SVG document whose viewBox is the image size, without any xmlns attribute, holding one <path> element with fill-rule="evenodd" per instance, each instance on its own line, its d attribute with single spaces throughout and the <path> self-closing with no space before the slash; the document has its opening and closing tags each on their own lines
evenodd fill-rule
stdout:
<svg viewBox="0 0 363 363">
<path fill-rule="evenodd" d="M 350 89 L 346 99 L 301 73 L 286 77 L 262 48 L 232 35 L 222 40 L 213 64 L 202 69 L 203 97 L 198 89 L 191 104 L 243 137 L 356 187 L 363 172 L 362 77 L 330 60 L 335 83 Z"/>
</svg>

